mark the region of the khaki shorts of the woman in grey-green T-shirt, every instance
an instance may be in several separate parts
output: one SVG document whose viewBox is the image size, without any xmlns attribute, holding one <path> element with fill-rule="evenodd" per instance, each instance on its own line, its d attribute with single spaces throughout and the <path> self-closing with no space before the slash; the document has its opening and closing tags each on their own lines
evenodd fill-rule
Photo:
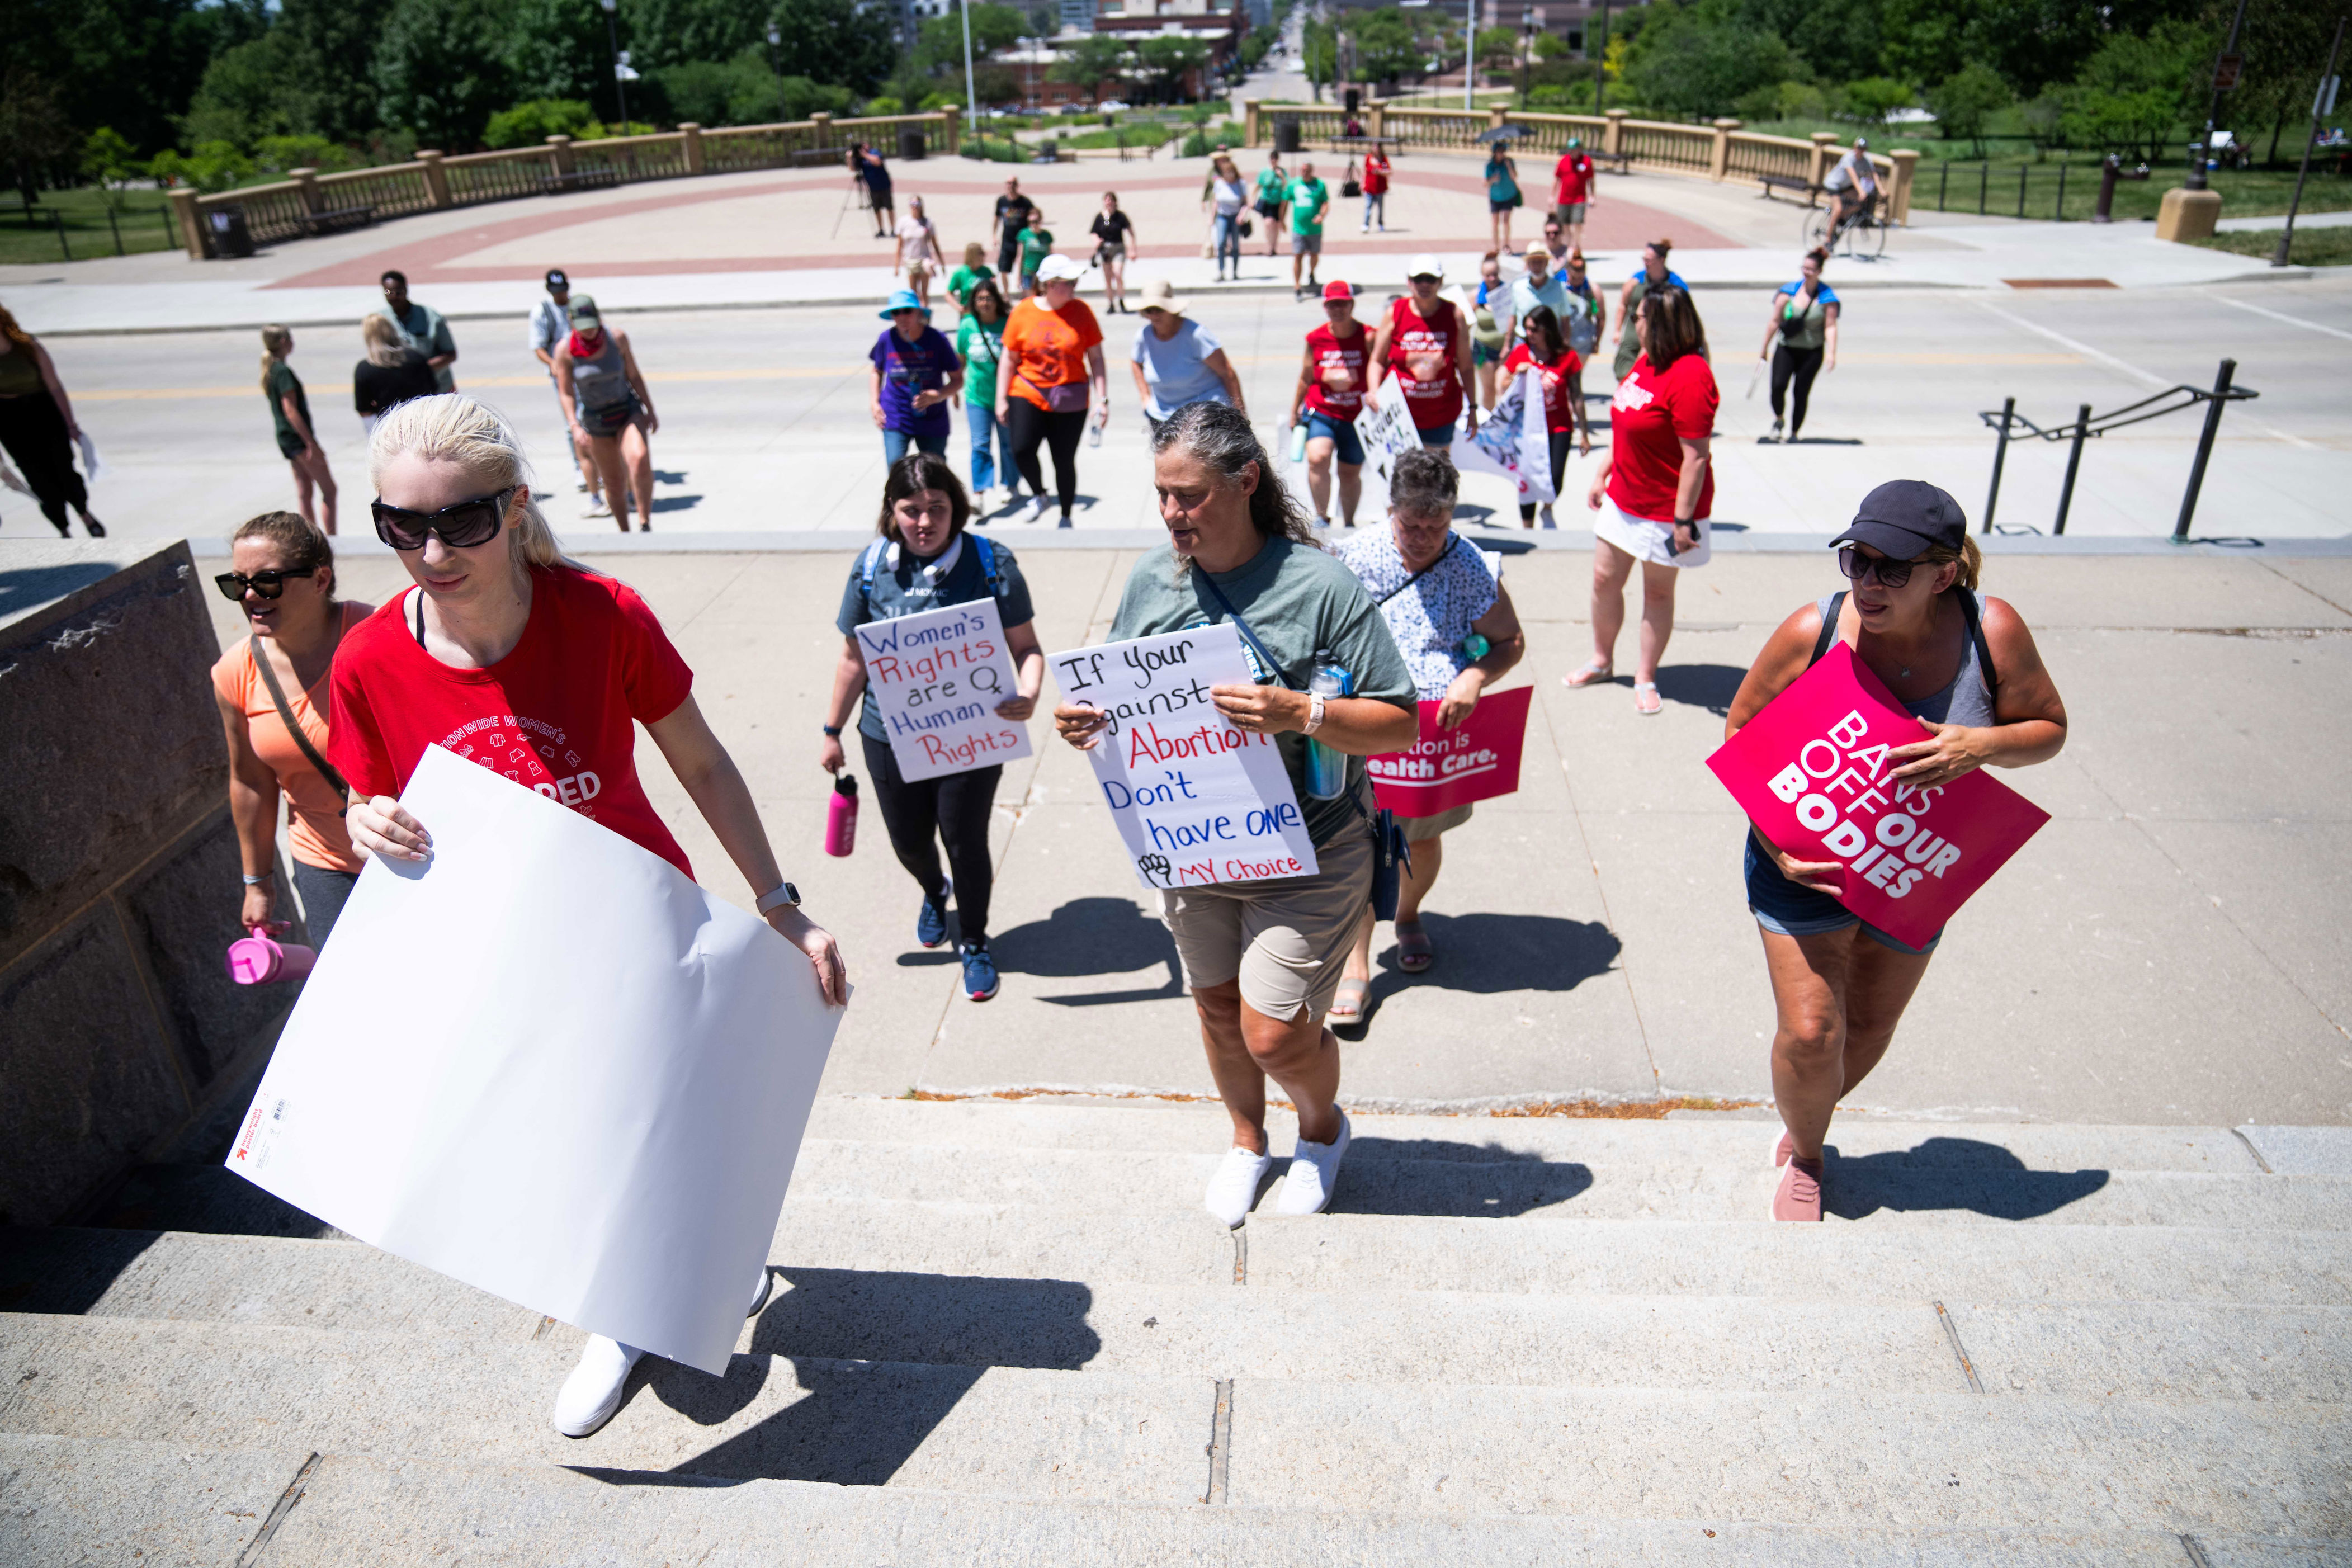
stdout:
<svg viewBox="0 0 2352 1568">
<path fill-rule="evenodd" d="M 1331 1011 L 1355 929 L 1371 907 L 1371 827 L 1350 823 L 1315 849 L 1312 877 L 1160 889 L 1188 990 L 1242 980 L 1268 1018 Z"/>
</svg>

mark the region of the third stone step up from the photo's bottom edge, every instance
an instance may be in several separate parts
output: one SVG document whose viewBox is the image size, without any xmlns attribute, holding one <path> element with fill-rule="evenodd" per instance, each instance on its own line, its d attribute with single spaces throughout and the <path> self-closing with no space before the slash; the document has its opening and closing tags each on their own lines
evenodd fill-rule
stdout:
<svg viewBox="0 0 2352 1568">
<path fill-rule="evenodd" d="M 581 1340 L 350 1241 L 165 1234 L 101 1293 L 61 1291 L 14 1309 L 546 1340 L 567 1352 Z M 1955 1300 L 1945 1309 L 1940 1319 L 1931 1300 L 1875 1300 L 1867 1284 L 1828 1312 L 1752 1295 L 1317 1293 L 783 1265 L 774 1300 L 736 1349 L 1141 1375 L 1752 1392 L 1957 1392 L 1969 1387 L 1964 1352 L 1992 1394 L 2352 1399 L 2352 1307 Z"/>
</svg>

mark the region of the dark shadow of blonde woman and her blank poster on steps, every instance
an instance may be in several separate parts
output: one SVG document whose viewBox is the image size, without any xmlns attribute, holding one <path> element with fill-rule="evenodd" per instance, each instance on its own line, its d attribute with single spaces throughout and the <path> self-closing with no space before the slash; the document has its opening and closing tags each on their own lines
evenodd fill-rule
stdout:
<svg viewBox="0 0 2352 1568">
<path fill-rule="evenodd" d="M 1063 1279 L 776 1269 L 783 1286 L 724 1378 L 649 1361 L 644 1387 L 687 1420 L 743 1413 L 769 1378 L 802 1389 L 757 1427 L 668 1474 L 586 1472 L 621 1486 L 696 1479 L 884 1486 L 990 1366 L 1077 1371 L 1103 1347 L 1094 1291 Z M 790 1361 L 781 1359 L 790 1356 Z"/>
</svg>

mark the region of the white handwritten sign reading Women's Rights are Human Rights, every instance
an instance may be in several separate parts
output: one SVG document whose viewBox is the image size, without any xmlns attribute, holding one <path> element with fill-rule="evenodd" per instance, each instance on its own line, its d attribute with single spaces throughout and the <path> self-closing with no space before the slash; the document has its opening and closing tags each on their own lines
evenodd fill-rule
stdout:
<svg viewBox="0 0 2352 1568">
<path fill-rule="evenodd" d="M 901 778 L 915 783 L 1030 755 L 1028 726 L 997 717 L 997 703 L 1018 686 L 993 597 L 868 621 L 856 637 Z"/>
</svg>

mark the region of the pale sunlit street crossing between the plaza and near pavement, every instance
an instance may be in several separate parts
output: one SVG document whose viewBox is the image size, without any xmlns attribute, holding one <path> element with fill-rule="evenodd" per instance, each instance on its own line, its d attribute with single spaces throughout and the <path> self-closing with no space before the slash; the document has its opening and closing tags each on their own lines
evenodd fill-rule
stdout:
<svg viewBox="0 0 2352 1568">
<path fill-rule="evenodd" d="M 1606 282 L 1606 280 L 1604 280 Z M 1371 280 L 1367 315 L 1385 280 Z M 1195 296 L 1242 371 L 1268 442 L 1279 435 L 1298 346 L 1317 306 L 1284 294 Z M 532 442 L 550 508 L 569 536 L 609 522 L 581 517 L 562 461 L 555 397 L 532 360 L 515 289 L 513 322 L 459 322 L 459 386 L 508 409 Z M 1771 411 L 1750 383 L 1766 299 L 1700 294 L 1724 390 L 1717 421 L 1719 522 L 1757 531 L 1825 534 L 1879 480 L 1926 477 L 1978 512 L 1992 435 L 1978 418 L 2013 395 L 2044 428 L 2079 404 L 2107 411 L 2173 383 L 2209 386 L 2223 357 L 2260 393 L 2223 416 L 2199 508 L 2206 536 L 2345 534 L 2352 480 L 2352 402 L 2343 367 L 2352 343 L 2352 280 L 2206 289 L 1905 292 L 1853 289 L 1839 367 L 1820 378 L 1802 444 L 1759 444 Z M 953 313 L 941 310 L 941 324 Z M 1112 423 L 1101 449 L 1080 451 L 1080 529 L 1150 527 L 1143 421 L 1127 374 L 1136 317 L 1110 329 Z M 868 416 L 866 350 L 882 322 L 868 310 L 666 310 L 616 315 L 652 378 L 659 531 L 793 531 L 870 527 L 882 442 Z M 226 536 L 245 517 L 292 503 L 292 480 L 270 440 L 259 390 L 259 341 L 247 331 L 61 336 L 59 371 L 106 470 L 94 503 L 129 534 Z M 358 329 L 296 334 L 294 369 L 343 487 L 346 529 L 367 496 L 365 447 L 348 374 Z M 1604 390 L 1604 376 L 1588 393 Z M 1604 418 L 1602 404 L 1592 404 Z M 2089 444 L 2070 534 L 2154 538 L 2171 531 L 2194 451 L 2199 414 L 2171 414 Z M 962 423 L 950 444 L 964 465 Z M 2002 524 L 2049 529 L 2065 468 L 2063 442 L 2013 447 Z M 1581 489 L 1571 465 L 1566 489 Z M 1303 473 L 1294 475 L 1303 482 Z M 1465 482 L 1465 522 L 1515 524 L 1501 480 Z M 1367 510 L 1376 510 L 1374 498 Z M 1562 508 L 1578 527 L 1581 508 Z M 45 531 L 16 496 L 0 498 L 0 536 Z M 1025 527 L 1025 524 L 1004 524 Z M 362 529 L 365 531 L 365 529 Z"/>
</svg>

